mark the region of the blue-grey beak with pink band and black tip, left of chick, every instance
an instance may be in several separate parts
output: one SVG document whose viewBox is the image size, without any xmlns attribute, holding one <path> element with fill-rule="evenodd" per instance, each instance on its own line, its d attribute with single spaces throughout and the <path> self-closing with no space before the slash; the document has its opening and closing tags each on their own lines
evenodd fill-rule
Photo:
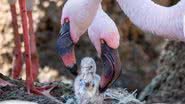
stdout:
<svg viewBox="0 0 185 104">
<path fill-rule="evenodd" d="M 70 35 L 70 23 L 69 20 L 65 20 L 60 30 L 57 40 L 57 52 L 60 55 L 64 66 L 70 70 L 73 75 L 77 75 L 77 65 L 74 50 L 74 43 Z"/>
</svg>

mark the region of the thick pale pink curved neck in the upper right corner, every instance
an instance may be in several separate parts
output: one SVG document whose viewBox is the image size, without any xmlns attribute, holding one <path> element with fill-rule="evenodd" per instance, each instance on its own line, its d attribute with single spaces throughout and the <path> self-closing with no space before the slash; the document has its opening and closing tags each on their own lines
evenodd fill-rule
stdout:
<svg viewBox="0 0 185 104">
<path fill-rule="evenodd" d="M 117 0 L 130 20 L 142 30 L 163 38 L 185 41 L 185 0 L 164 7 L 152 0 Z"/>
</svg>

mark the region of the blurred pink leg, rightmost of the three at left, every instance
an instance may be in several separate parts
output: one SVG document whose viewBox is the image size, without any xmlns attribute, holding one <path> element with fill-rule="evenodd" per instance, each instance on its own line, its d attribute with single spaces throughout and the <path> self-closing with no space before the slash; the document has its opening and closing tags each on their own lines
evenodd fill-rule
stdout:
<svg viewBox="0 0 185 104">
<path fill-rule="evenodd" d="M 31 47 L 31 61 L 32 61 L 32 75 L 33 79 L 36 80 L 39 69 L 39 58 L 37 54 L 35 34 L 33 29 L 33 18 L 32 11 L 27 11 L 28 20 L 29 20 L 29 34 L 30 34 L 30 47 Z"/>
</svg>

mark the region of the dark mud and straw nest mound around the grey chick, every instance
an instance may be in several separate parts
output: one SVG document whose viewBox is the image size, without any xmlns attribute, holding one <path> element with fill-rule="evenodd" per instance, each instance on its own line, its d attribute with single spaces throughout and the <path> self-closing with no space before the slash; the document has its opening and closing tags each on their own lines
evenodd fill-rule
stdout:
<svg viewBox="0 0 185 104">
<path fill-rule="evenodd" d="M 28 94 L 23 80 L 13 80 L 0 74 L 0 78 L 13 84 L 13 86 L 0 87 L 0 101 L 24 100 L 36 102 L 38 104 L 58 104 L 56 100 L 47 96 Z M 77 104 L 72 85 L 63 82 L 36 83 L 36 86 L 56 86 L 50 94 L 53 98 L 65 104 Z M 103 94 L 104 104 L 143 104 L 135 97 L 135 92 L 130 94 L 125 89 L 108 89 Z M 59 103 L 60 104 L 60 103 Z"/>
</svg>

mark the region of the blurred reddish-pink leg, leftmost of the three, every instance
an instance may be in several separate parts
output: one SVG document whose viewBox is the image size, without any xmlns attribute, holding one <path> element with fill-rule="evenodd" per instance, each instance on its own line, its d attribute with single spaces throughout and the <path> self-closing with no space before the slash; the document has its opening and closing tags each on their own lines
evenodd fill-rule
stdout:
<svg viewBox="0 0 185 104">
<path fill-rule="evenodd" d="M 10 9 L 11 9 L 11 15 L 12 15 L 12 25 L 13 25 L 14 43 L 15 43 L 12 77 L 14 79 L 18 79 L 22 69 L 22 53 L 21 53 L 21 39 L 18 32 L 17 12 L 16 12 L 15 3 L 10 4 Z"/>
</svg>

